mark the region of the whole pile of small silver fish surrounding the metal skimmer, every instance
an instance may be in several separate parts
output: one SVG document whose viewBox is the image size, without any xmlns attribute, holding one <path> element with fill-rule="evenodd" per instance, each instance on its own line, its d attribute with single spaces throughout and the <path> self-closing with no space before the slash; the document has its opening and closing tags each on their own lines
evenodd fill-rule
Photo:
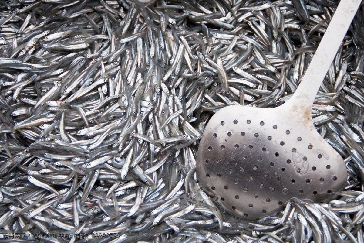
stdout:
<svg viewBox="0 0 364 243">
<path fill-rule="evenodd" d="M 362 9 L 312 108 L 337 200 L 248 222 L 195 175 L 209 118 L 288 101 L 337 3 L 0 0 L 0 242 L 363 243 Z"/>
</svg>

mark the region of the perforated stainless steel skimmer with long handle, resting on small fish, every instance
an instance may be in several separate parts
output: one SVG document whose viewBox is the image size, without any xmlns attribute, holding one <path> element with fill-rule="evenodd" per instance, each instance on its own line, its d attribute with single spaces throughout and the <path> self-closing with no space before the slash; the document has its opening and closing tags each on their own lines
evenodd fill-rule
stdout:
<svg viewBox="0 0 364 243">
<path fill-rule="evenodd" d="M 359 5 L 340 1 L 288 102 L 272 109 L 227 106 L 206 125 L 198 182 L 230 215 L 255 220 L 275 215 L 288 201 L 327 202 L 345 187 L 343 158 L 317 133 L 311 108 Z"/>
</svg>

